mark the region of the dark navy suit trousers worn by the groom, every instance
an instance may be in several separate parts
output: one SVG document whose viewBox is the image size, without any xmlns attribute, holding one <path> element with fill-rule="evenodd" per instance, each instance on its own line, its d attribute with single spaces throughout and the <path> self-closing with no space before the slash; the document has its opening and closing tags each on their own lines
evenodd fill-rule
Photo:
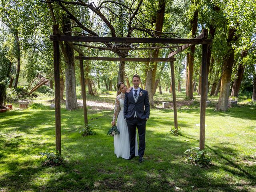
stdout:
<svg viewBox="0 0 256 192">
<path fill-rule="evenodd" d="M 146 119 L 138 120 L 138 118 L 133 118 L 133 120 L 126 120 L 128 126 L 128 132 L 130 137 L 130 155 L 135 154 L 135 139 L 136 138 L 136 128 L 138 128 L 139 134 L 139 156 L 144 155 L 144 151 L 146 148 L 145 136 L 146 136 Z"/>
</svg>

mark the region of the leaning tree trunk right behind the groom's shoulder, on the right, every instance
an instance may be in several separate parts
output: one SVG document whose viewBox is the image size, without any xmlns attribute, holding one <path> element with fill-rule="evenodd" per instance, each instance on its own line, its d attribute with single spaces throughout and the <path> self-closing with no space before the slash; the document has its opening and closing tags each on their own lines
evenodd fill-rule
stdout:
<svg viewBox="0 0 256 192">
<path fill-rule="evenodd" d="M 164 12 L 165 12 L 165 4 L 166 0 L 158 1 L 158 10 L 156 12 L 156 31 L 162 32 L 163 24 L 164 24 Z M 161 36 L 161 33 L 155 32 L 156 36 Z M 152 47 L 155 47 L 156 44 L 153 44 Z M 159 49 L 153 51 L 152 56 L 158 57 Z M 148 98 L 151 107 L 154 107 L 154 84 L 156 79 L 156 70 L 157 70 L 157 62 L 151 62 L 149 64 L 151 66 L 148 70 L 146 77 L 146 87 L 145 89 L 148 91 Z"/>
</svg>

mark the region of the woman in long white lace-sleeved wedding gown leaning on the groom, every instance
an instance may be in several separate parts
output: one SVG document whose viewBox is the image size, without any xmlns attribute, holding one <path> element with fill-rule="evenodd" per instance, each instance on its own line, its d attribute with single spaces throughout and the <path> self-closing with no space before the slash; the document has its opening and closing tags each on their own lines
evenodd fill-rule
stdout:
<svg viewBox="0 0 256 192">
<path fill-rule="evenodd" d="M 115 149 L 114 152 L 117 158 L 122 157 L 122 158 L 128 159 L 130 156 L 130 140 L 129 140 L 128 127 L 127 127 L 126 121 L 124 120 L 124 94 L 127 90 L 127 87 L 123 82 L 119 82 L 117 84 L 117 88 L 120 94 L 118 94 L 118 96 L 116 97 L 114 116 L 111 124 L 112 126 L 116 124 L 118 130 L 120 131 L 120 134 L 114 136 L 114 149 Z M 118 118 L 116 121 L 117 116 Z M 138 156 L 137 139 L 135 143 L 135 156 Z"/>
</svg>

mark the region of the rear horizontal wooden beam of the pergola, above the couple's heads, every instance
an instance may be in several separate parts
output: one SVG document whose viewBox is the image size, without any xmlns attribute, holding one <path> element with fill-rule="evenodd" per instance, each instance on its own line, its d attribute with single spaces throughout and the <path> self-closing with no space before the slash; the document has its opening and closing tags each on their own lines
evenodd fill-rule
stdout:
<svg viewBox="0 0 256 192">
<path fill-rule="evenodd" d="M 76 60 L 101 60 L 101 61 L 136 61 L 136 62 L 167 62 L 176 58 L 123 58 L 123 57 L 75 57 Z"/>
</svg>

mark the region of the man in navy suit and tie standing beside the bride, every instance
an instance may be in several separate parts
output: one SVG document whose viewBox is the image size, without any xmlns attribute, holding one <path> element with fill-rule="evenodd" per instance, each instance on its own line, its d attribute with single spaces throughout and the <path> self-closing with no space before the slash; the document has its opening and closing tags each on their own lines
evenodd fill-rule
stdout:
<svg viewBox="0 0 256 192">
<path fill-rule="evenodd" d="M 134 75 L 132 83 L 132 91 L 125 94 L 124 97 L 124 120 L 126 120 L 130 138 L 130 157 L 127 160 L 131 160 L 135 156 L 136 128 L 138 128 L 140 140 L 139 162 L 142 162 L 144 161 L 143 155 L 146 148 L 146 121 L 149 118 L 150 104 L 148 92 L 139 87 L 140 76 Z"/>
</svg>

